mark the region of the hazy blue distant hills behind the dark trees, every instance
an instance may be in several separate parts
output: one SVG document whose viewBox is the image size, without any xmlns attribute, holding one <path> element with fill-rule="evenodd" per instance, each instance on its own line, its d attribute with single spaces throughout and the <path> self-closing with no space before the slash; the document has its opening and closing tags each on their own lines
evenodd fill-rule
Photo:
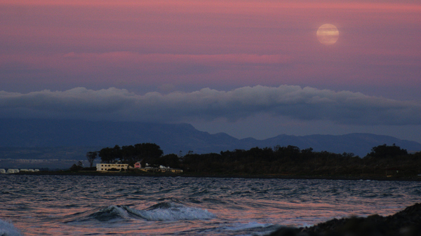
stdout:
<svg viewBox="0 0 421 236">
<path fill-rule="evenodd" d="M 307 135 L 281 134 L 265 140 L 236 139 L 225 133 L 209 134 L 189 124 L 138 122 L 0 119 L 0 148 L 112 147 L 155 143 L 164 153 L 220 153 L 234 149 L 279 146 L 313 148 L 314 151 L 355 153 L 361 157 L 374 146 L 396 144 L 408 151 L 421 151 L 415 141 L 375 134 Z M 86 150 L 82 148 L 81 150 Z M 92 150 L 95 151 L 95 150 Z M 1 158 L 1 157 L 0 157 Z"/>
</svg>

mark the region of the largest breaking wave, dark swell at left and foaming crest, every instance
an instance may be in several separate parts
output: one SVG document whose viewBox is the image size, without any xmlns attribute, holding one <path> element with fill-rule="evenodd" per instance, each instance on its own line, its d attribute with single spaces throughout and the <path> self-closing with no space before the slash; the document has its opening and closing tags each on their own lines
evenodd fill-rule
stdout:
<svg viewBox="0 0 421 236">
<path fill-rule="evenodd" d="M 113 221 L 128 218 L 140 218 L 146 221 L 185 221 L 215 218 L 215 214 L 206 209 L 187 207 L 174 202 L 161 202 L 147 209 L 138 210 L 123 205 L 112 205 L 100 209 L 88 216 L 98 221 Z"/>
</svg>

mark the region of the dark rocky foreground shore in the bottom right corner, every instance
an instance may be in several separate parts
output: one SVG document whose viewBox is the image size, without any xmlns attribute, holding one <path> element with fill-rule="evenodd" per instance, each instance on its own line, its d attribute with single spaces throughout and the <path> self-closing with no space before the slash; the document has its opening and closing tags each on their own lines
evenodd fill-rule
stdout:
<svg viewBox="0 0 421 236">
<path fill-rule="evenodd" d="M 392 216 L 334 218 L 309 228 L 281 228 L 269 236 L 421 236 L 421 204 Z"/>
</svg>

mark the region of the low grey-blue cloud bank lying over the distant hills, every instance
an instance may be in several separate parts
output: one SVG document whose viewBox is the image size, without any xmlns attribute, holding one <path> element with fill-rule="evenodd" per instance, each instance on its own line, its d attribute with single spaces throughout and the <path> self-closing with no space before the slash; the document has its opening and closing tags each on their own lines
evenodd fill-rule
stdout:
<svg viewBox="0 0 421 236">
<path fill-rule="evenodd" d="M 117 88 L 43 90 L 26 94 L 0 91 L 1 118 L 173 123 L 218 118 L 235 121 L 260 113 L 300 120 L 332 120 L 345 125 L 421 124 L 421 105 L 418 102 L 290 85 L 243 87 L 231 91 L 203 88 L 168 95 L 159 92 L 136 95 Z"/>
</svg>

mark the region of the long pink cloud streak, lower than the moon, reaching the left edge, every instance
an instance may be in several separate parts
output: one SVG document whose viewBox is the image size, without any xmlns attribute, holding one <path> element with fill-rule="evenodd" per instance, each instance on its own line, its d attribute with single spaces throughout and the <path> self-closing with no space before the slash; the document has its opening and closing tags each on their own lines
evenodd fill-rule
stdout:
<svg viewBox="0 0 421 236">
<path fill-rule="evenodd" d="M 178 71 L 183 67 L 213 67 L 215 70 L 236 67 L 271 66 L 288 63 L 290 58 L 282 55 L 175 55 L 139 54 L 131 52 L 67 53 L 65 55 L 0 55 L 2 64 L 23 64 L 27 69 L 60 69 L 69 74 L 98 74 L 115 69 L 145 71 Z M 189 71 L 185 71 L 189 73 Z M 156 78 L 159 79 L 159 78 Z"/>
</svg>

